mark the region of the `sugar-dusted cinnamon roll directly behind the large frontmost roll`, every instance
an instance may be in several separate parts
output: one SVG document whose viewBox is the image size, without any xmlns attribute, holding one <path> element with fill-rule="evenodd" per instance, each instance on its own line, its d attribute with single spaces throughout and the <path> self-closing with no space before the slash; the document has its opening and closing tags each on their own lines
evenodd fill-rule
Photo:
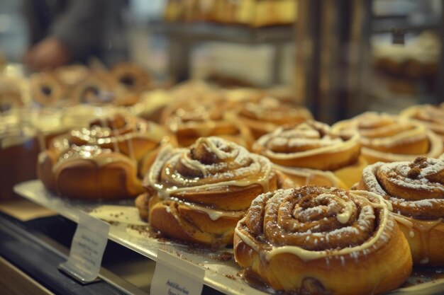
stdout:
<svg viewBox="0 0 444 295">
<path fill-rule="evenodd" d="M 366 164 L 356 132 L 335 134 L 312 120 L 278 127 L 257 139 L 253 151 L 270 158 L 297 185 L 351 187 Z"/>
</svg>

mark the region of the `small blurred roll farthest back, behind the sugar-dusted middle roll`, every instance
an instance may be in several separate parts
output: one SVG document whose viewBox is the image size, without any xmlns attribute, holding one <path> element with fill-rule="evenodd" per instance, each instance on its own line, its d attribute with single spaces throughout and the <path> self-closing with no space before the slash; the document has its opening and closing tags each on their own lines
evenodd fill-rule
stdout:
<svg viewBox="0 0 444 295">
<path fill-rule="evenodd" d="M 274 131 L 280 125 L 313 119 L 306 108 L 282 103 L 271 97 L 243 103 L 238 117 L 240 122 L 250 129 L 255 139 Z"/>
</svg>

